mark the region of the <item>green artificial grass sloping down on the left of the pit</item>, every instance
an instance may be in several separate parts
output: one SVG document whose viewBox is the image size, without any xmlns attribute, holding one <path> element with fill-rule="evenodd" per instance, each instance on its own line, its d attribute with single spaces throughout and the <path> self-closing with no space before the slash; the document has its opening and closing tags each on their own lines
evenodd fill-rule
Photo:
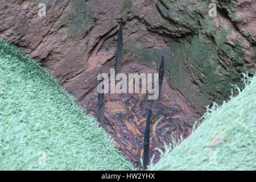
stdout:
<svg viewBox="0 0 256 182">
<path fill-rule="evenodd" d="M 39 64 L 0 39 L 0 170 L 134 169 Z"/>
</svg>

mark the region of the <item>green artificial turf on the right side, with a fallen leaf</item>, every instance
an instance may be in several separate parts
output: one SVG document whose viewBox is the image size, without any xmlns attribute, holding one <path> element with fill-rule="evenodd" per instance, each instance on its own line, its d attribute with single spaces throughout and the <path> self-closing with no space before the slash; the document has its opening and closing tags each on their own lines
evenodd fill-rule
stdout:
<svg viewBox="0 0 256 182">
<path fill-rule="evenodd" d="M 149 169 L 255 170 L 256 75 L 245 76 L 245 85 L 242 92 L 237 88 L 237 97 L 208 110 L 191 137 L 174 150 L 167 146 L 159 163 Z"/>
</svg>

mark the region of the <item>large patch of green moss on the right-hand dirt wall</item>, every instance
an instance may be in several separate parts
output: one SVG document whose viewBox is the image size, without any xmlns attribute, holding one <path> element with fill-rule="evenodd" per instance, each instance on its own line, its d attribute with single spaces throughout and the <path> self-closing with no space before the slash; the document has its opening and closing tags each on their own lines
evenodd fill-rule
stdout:
<svg viewBox="0 0 256 182">
<path fill-rule="evenodd" d="M 229 43 L 232 28 L 226 29 L 223 23 L 216 28 L 214 17 L 208 15 L 209 1 L 174 3 L 160 0 L 157 5 L 166 18 L 158 23 L 170 35 L 182 36 L 182 39 L 170 42 L 163 49 L 149 49 L 146 43 L 138 43 L 136 47 L 128 44 L 125 46 L 127 54 L 138 56 L 139 62 L 151 68 L 151 61 L 156 60 L 159 64 L 164 55 L 169 84 L 196 108 L 208 105 L 213 96 L 217 96 L 219 102 L 227 100 L 232 84 L 241 86 L 239 73 L 250 69 L 243 60 L 245 49 L 249 48 L 239 37 L 234 40 L 234 45 Z M 234 3 L 230 8 L 236 10 Z"/>
</svg>

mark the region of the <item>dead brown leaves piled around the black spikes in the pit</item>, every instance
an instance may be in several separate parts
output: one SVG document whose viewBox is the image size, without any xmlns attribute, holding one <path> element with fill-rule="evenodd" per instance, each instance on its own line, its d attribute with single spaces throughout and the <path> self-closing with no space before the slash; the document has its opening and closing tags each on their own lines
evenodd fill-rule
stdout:
<svg viewBox="0 0 256 182">
<path fill-rule="evenodd" d="M 179 140 L 187 137 L 193 122 L 185 115 L 184 106 L 171 106 L 171 98 L 163 93 L 152 111 L 150 156 L 155 154 L 154 162 L 160 159 L 155 148 L 164 151 L 164 143 L 172 143 L 172 137 Z M 117 147 L 135 167 L 141 167 L 140 158 L 143 156 L 144 130 L 150 100 L 147 94 L 105 94 L 106 130 L 112 134 Z M 97 95 L 86 101 L 86 109 L 98 118 Z M 172 137 L 171 137 L 172 136 Z"/>
</svg>

